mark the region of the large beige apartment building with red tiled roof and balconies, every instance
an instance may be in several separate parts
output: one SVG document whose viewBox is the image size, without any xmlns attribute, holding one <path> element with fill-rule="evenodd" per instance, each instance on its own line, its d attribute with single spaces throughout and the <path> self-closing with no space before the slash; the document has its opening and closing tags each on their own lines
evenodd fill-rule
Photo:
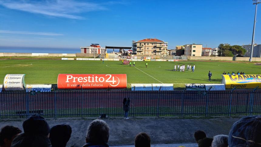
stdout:
<svg viewBox="0 0 261 147">
<path fill-rule="evenodd" d="M 135 42 L 137 55 L 168 55 L 168 42 L 156 38 L 146 38 Z"/>
</svg>

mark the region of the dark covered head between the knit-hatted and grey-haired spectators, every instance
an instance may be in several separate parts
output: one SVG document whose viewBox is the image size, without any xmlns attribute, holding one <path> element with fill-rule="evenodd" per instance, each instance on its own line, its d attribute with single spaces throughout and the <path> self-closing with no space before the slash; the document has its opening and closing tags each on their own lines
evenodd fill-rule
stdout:
<svg viewBox="0 0 261 147">
<path fill-rule="evenodd" d="M 56 125 L 50 130 L 49 139 L 52 147 L 66 147 L 72 134 L 72 128 L 69 125 Z"/>
</svg>

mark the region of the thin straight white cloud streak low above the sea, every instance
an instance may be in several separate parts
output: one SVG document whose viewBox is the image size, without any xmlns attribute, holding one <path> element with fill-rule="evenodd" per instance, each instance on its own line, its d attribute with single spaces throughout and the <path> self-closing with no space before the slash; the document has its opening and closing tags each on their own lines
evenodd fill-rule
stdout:
<svg viewBox="0 0 261 147">
<path fill-rule="evenodd" d="M 52 32 L 28 32 L 28 31 L 10 31 L 10 30 L 0 30 L 0 33 L 5 34 L 23 34 L 23 35 L 44 35 L 44 36 L 60 36 L 63 34 L 57 34 Z"/>
</svg>

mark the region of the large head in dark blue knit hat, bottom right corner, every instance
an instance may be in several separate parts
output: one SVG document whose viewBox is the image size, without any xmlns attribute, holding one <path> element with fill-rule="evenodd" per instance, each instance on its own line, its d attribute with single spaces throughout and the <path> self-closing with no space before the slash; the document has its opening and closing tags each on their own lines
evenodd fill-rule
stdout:
<svg viewBox="0 0 261 147">
<path fill-rule="evenodd" d="M 261 146 L 261 115 L 245 116 L 235 122 L 229 132 L 229 147 Z"/>
</svg>

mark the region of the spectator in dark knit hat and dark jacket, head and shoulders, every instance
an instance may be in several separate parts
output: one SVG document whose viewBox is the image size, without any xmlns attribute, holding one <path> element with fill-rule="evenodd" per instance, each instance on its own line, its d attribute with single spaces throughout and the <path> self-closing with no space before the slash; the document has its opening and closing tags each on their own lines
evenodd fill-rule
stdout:
<svg viewBox="0 0 261 147">
<path fill-rule="evenodd" d="M 24 133 L 15 137 L 11 147 L 52 147 L 50 127 L 40 115 L 32 115 L 23 122 Z"/>
</svg>

